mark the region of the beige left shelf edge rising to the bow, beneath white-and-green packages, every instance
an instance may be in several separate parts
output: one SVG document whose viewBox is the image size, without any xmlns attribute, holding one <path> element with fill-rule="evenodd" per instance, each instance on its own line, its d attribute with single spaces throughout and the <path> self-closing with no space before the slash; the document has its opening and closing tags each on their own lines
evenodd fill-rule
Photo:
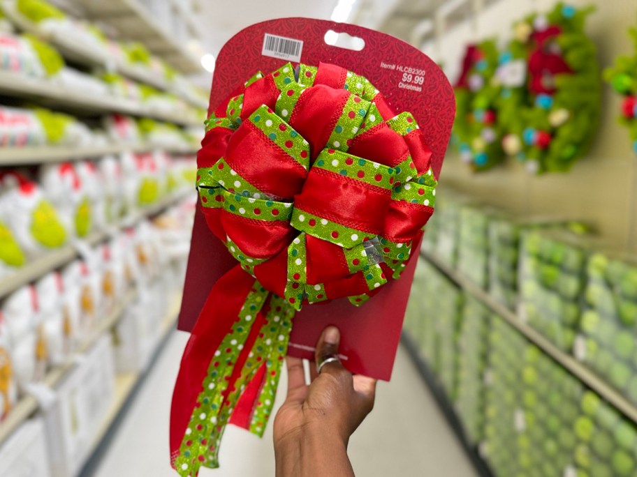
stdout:
<svg viewBox="0 0 637 477">
<path fill-rule="evenodd" d="M 188 193 L 191 193 L 191 191 L 189 190 Z M 141 211 L 138 211 L 133 215 L 129 215 L 128 217 L 120 220 L 115 229 L 130 227 L 131 225 L 136 224 L 136 222 L 139 222 L 142 218 L 156 215 L 157 213 L 166 209 L 168 206 L 179 202 L 184 197 L 186 197 L 186 192 L 167 197 L 166 199 L 161 200 L 153 206 L 142 209 Z M 100 243 L 108 239 L 109 236 L 110 232 L 96 232 L 95 234 L 89 236 L 89 238 L 85 240 L 85 243 L 87 243 L 88 245 L 96 245 L 96 243 Z M 13 275 L 0 280 L 0 298 L 2 296 L 10 294 L 23 285 L 27 285 L 34 280 L 37 280 L 45 273 L 48 273 L 55 270 L 56 268 L 68 264 L 79 255 L 80 252 L 78 248 L 73 247 L 73 245 L 66 245 L 64 248 L 60 248 L 59 250 L 55 250 L 54 252 L 49 252 L 42 257 L 35 259 L 33 262 L 20 268 L 20 270 L 18 270 Z"/>
</svg>

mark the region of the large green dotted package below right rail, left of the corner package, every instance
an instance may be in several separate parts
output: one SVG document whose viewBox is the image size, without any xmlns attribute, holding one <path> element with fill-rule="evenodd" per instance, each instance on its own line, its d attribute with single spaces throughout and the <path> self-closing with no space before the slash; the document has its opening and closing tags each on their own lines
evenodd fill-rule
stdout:
<svg viewBox="0 0 637 477">
<path fill-rule="evenodd" d="M 482 451 L 494 474 L 570 475 L 583 385 L 497 316 L 488 354 Z"/>
</svg>

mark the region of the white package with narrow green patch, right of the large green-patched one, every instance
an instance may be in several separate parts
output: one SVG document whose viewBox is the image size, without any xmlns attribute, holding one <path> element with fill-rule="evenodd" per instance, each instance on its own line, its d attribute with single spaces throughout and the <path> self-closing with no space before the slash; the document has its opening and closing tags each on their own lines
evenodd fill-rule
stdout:
<svg viewBox="0 0 637 477">
<path fill-rule="evenodd" d="M 89 184 L 80 176 L 73 162 L 45 164 L 40 168 L 40 182 L 47 197 L 59 210 L 66 229 L 85 239 L 94 227 L 94 204 Z"/>
</svg>

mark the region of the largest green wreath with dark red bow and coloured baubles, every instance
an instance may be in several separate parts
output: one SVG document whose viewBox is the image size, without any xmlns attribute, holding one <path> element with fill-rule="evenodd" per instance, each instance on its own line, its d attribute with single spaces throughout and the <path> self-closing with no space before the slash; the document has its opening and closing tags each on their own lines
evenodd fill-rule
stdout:
<svg viewBox="0 0 637 477">
<path fill-rule="evenodd" d="M 500 121 L 502 148 L 529 172 L 568 171 L 594 137 L 601 82 L 596 48 L 584 33 L 591 12 L 558 3 L 547 15 L 529 15 L 515 24 L 501 58 L 504 70 L 526 59 L 525 71 L 515 68 L 524 87 L 501 90 Z"/>
</svg>

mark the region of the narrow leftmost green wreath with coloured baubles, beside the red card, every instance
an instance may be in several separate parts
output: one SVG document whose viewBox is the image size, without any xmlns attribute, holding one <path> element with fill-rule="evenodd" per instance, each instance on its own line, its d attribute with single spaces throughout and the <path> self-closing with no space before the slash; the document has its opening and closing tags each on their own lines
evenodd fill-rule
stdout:
<svg viewBox="0 0 637 477">
<path fill-rule="evenodd" d="M 489 169 L 504 159 L 497 121 L 499 84 L 495 81 L 498 51 L 494 40 L 469 45 L 462 72 L 455 84 L 456 120 L 453 141 L 460 157 L 476 171 Z"/>
</svg>

